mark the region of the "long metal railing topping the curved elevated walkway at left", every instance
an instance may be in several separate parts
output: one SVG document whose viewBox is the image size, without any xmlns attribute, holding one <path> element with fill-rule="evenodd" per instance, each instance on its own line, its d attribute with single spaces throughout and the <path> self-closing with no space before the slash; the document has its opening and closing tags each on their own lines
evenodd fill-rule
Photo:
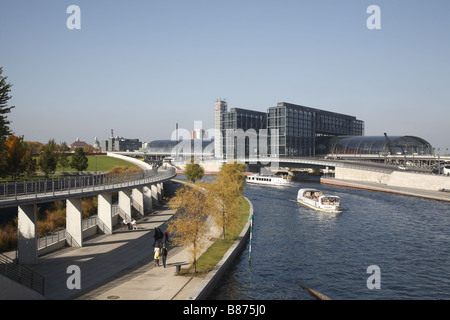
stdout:
<svg viewBox="0 0 450 320">
<path fill-rule="evenodd" d="M 163 172 L 157 169 L 126 174 L 99 174 L 57 178 L 38 181 L 6 182 L 0 184 L 0 202 L 2 200 L 19 200 L 19 198 L 38 198 L 74 193 L 95 192 L 123 188 L 127 186 L 152 183 L 175 176 L 175 169 L 168 168 Z"/>
</svg>

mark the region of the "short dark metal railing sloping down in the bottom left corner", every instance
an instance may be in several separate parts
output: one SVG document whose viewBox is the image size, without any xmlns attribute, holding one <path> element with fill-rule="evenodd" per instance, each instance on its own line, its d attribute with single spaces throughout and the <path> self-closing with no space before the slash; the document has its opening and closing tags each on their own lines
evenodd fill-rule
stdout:
<svg viewBox="0 0 450 320">
<path fill-rule="evenodd" d="M 0 273 L 44 295 L 45 277 L 0 253 Z"/>
</svg>

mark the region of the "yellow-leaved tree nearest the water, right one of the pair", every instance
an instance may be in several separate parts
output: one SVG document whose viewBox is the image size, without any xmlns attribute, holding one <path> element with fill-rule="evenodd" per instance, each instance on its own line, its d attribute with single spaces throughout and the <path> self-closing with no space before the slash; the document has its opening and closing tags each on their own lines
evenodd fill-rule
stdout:
<svg viewBox="0 0 450 320">
<path fill-rule="evenodd" d="M 238 212 L 245 190 L 245 176 L 242 174 L 245 165 L 224 164 L 216 181 L 207 189 L 212 198 L 218 199 L 212 211 L 217 225 L 222 227 L 222 238 L 225 240 L 226 230 L 234 228 L 238 223 Z"/>
</svg>

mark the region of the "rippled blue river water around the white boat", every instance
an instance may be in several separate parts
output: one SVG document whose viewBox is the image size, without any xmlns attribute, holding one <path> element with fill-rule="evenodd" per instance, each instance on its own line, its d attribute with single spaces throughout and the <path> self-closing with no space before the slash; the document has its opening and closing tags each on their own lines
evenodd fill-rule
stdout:
<svg viewBox="0 0 450 320">
<path fill-rule="evenodd" d="M 344 212 L 304 207 L 300 187 L 340 196 Z M 448 203 L 318 182 L 247 184 L 245 196 L 254 206 L 251 263 L 247 245 L 213 299 L 314 299 L 299 283 L 340 300 L 450 299 Z"/>
</svg>

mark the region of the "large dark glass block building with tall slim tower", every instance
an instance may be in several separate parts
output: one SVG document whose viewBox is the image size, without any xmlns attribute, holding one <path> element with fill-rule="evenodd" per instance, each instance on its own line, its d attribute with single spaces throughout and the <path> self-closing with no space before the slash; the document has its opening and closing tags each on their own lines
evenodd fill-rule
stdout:
<svg viewBox="0 0 450 320">
<path fill-rule="evenodd" d="M 227 134 L 242 129 L 267 129 L 267 151 L 275 157 L 313 157 L 325 154 L 329 140 L 335 136 L 362 136 L 364 122 L 354 116 L 280 102 L 267 112 L 233 108 L 227 111 L 227 103 L 215 103 L 215 129 L 222 139 L 215 139 L 215 156 L 237 155 L 236 136 Z M 260 137 L 261 138 L 261 137 Z M 252 153 L 250 135 L 245 137 L 245 156 Z M 272 143 L 273 142 L 273 143 Z M 278 150 L 278 151 L 275 151 Z"/>
</svg>

